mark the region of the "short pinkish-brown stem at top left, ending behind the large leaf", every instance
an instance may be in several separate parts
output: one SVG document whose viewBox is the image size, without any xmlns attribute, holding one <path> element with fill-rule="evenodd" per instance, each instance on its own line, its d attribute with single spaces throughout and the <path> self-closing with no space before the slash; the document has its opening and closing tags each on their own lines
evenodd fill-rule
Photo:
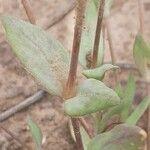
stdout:
<svg viewBox="0 0 150 150">
<path fill-rule="evenodd" d="M 29 0 L 22 0 L 21 2 L 22 2 L 22 5 L 23 5 L 23 7 L 24 7 L 24 9 L 26 11 L 26 14 L 27 14 L 30 22 L 32 24 L 36 24 L 36 18 L 35 18 L 34 14 L 33 14 L 31 5 L 29 3 Z"/>
</svg>

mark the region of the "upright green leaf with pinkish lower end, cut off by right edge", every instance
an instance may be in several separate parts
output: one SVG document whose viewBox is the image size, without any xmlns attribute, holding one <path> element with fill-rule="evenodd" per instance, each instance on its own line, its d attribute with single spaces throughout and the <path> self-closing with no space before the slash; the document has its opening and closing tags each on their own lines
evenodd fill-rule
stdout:
<svg viewBox="0 0 150 150">
<path fill-rule="evenodd" d="M 150 81 L 150 47 L 137 35 L 133 48 L 134 60 L 143 77 Z"/>
</svg>

